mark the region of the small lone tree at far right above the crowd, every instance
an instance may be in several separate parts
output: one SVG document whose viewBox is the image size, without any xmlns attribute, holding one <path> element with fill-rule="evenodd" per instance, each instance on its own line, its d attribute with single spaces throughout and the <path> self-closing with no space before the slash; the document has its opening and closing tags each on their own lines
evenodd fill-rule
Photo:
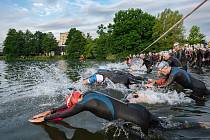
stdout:
<svg viewBox="0 0 210 140">
<path fill-rule="evenodd" d="M 193 25 L 190 29 L 190 34 L 187 38 L 190 45 L 202 43 L 205 39 L 205 35 L 200 32 L 200 28 L 196 25 Z"/>
</svg>

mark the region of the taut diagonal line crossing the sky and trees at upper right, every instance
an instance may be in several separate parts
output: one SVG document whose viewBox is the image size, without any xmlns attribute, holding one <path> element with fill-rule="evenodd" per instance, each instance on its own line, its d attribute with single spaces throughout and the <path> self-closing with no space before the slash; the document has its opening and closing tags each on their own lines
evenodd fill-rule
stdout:
<svg viewBox="0 0 210 140">
<path fill-rule="evenodd" d="M 206 3 L 208 0 L 204 0 L 201 4 L 199 4 L 197 7 L 195 7 L 189 14 L 181 18 L 176 24 L 174 24 L 168 31 L 166 31 L 164 34 L 162 34 L 159 38 L 157 38 L 152 44 L 150 44 L 148 47 L 146 47 L 144 50 L 142 50 L 140 53 L 144 52 L 148 48 L 150 48 L 152 45 L 154 45 L 156 42 L 158 42 L 162 37 L 164 37 L 168 32 L 170 32 L 174 27 L 176 27 L 179 23 L 184 21 L 187 17 L 189 17 L 193 12 L 195 12 L 198 8 L 200 8 L 204 3 Z"/>
</svg>

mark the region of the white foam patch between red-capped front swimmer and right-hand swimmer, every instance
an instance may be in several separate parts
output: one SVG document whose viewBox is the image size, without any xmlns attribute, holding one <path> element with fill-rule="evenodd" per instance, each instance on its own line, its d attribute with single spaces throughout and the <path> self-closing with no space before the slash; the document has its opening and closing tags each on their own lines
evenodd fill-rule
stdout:
<svg viewBox="0 0 210 140">
<path fill-rule="evenodd" d="M 127 96 L 127 100 L 131 103 L 148 103 L 148 104 L 169 104 L 176 105 L 181 103 L 190 103 L 193 100 L 186 97 L 184 93 L 177 93 L 176 91 L 169 91 L 167 93 L 161 93 L 153 91 L 151 89 L 137 91 L 137 98 L 133 97 L 133 94 Z"/>
</svg>

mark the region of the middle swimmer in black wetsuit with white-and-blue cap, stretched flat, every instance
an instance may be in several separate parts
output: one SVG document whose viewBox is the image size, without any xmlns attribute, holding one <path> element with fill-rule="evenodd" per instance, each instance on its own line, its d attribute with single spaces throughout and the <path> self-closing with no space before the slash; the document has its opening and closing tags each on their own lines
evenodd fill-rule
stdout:
<svg viewBox="0 0 210 140">
<path fill-rule="evenodd" d="M 100 70 L 88 79 L 83 80 L 83 84 L 93 85 L 95 83 L 102 83 L 106 78 L 110 79 L 113 83 L 124 84 L 127 88 L 129 88 L 129 85 L 131 84 L 139 84 L 141 83 L 141 80 L 146 80 L 146 78 L 141 76 L 134 76 L 130 73 L 118 70 Z"/>
</svg>

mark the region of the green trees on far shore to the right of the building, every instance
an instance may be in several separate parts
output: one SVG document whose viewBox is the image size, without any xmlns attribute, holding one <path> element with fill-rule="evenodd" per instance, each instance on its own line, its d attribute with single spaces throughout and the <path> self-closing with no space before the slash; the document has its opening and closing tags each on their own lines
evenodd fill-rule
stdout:
<svg viewBox="0 0 210 140">
<path fill-rule="evenodd" d="M 182 17 L 179 11 L 170 9 L 165 9 L 157 17 L 141 9 L 121 10 L 115 14 L 112 24 L 98 26 L 96 39 L 75 28 L 70 29 L 66 51 L 69 57 L 84 55 L 96 59 L 120 59 L 138 54 Z M 180 23 L 146 52 L 168 50 L 175 42 L 198 44 L 205 38 L 197 26 L 192 27 L 188 37 L 184 33 L 183 23 Z"/>
</svg>

